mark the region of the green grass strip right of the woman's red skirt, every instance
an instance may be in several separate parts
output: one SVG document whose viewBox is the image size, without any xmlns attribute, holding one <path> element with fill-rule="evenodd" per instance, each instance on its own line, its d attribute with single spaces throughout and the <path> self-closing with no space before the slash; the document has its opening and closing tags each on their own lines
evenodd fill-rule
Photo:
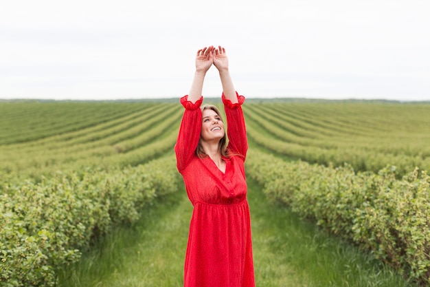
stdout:
<svg viewBox="0 0 430 287">
<path fill-rule="evenodd" d="M 415 286 L 357 246 L 268 202 L 257 188 L 249 182 L 257 286 Z"/>
</svg>

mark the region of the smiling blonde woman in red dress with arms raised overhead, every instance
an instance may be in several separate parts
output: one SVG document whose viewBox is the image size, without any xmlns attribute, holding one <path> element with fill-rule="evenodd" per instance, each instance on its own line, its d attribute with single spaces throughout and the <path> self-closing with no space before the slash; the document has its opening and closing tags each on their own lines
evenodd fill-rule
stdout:
<svg viewBox="0 0 430 287">
<path fill-rule="evenodd" d="M 225 125 L 216 107 L 205 105 L 207 70 L 218 69 L 223 86 Z M 196 55 L 196 72 L 177 144 L 177 168 L 194 206 L 185 255 L 185 287 L 254 287 L 251 224 L 245 181 L 248 144 L 239 96 L 229 75 L 225 49 L 204 47 Z"/>
</svg>

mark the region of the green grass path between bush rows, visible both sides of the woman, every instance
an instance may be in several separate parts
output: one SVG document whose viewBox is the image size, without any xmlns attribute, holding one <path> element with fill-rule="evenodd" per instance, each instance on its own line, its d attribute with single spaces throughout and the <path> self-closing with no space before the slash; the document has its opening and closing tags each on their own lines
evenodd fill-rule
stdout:
<svg viewBox="0 0 430 287">
<path fill-rule="evenodd" d="M 256 286 L 410 286 L 357 248 L 268 202 L 249 182 Z M 183 286 L 192 206 L 181 191 L 119 228 L 60 276 L 67 287 Z"/>
</svg>

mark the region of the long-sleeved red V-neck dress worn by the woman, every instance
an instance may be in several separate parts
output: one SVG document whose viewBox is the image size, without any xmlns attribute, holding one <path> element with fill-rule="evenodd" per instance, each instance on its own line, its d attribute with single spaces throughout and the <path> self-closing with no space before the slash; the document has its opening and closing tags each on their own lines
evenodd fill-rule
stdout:
<svg viewBox="0 0 430 287">
<path fill-rule="evenodd" d="M 185 255 L 185 287 L 255 287 L 245 181 L 248 143 L 240 107 L 245 97 L 238 96 L 236 104 L 224 95 L 222 98 L 229 124 L 227 149 L 232 155 L 223 158 L 225 173 L 210 157 L 201 159 L 194 154 L 201 134 L 203 98 L 196 103 L 188 101 L 188 96 L 181 98 L 185 112 L 174 151 L 194 206 Z"/>
</svg>

